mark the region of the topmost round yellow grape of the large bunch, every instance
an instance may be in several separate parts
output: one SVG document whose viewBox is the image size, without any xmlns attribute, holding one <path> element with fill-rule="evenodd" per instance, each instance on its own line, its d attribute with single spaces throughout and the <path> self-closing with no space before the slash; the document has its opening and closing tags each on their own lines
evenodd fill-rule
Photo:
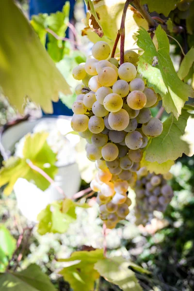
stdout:
<svg viewBox="0 0 194 291">
<path fill-rule="evenodd" d="M 92 55 L 97 60 L 106 60 L 111 53 L 111 48 L 105 41 L 98 41 L 92 47 Z"/>
</svg>

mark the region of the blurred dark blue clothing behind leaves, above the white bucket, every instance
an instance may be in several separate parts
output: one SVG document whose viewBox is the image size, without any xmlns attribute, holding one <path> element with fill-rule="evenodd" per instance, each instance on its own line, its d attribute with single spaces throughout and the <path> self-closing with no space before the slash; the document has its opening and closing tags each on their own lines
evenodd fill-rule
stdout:
<svg viewBox="0 0 194 291">
<path fill-rule="evenodd" d="M 76 0 L 68 0 L 70 3 L 69 20 L 73 18 L 73 10 Z M 39 13 L 55 13 L 62 11 L 66 0 L 30 0 L 30 18 L 32 15 L 38 15 Z M 65 32 L 68 37 L 68 29 Z M 53 113 L 47 115 L 73 115 L 71 109 L 65 106 L 65 104 L 59 100 L 58 102 L 52 102 Z M 45 113 L 43 112 L 45 115 Z"/>
</svg>

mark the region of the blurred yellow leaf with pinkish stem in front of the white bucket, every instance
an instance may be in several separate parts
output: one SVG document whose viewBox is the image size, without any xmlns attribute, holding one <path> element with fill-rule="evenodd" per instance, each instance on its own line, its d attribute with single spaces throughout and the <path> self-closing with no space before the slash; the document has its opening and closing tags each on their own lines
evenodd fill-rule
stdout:
<svg viewBox="0 0 194 291">
<path fill-rule="evenodd" d="M 43 191 L 49 187 L 49 181 L 32 170 L 27 163 L 27 160 L 30 160 L 34 165 L 44 170 L 49 177 L 54 178 L 58 171 L 55 166 L 56 154 L 47 144 L 47 137 L 47 132 L 27 134 L 23 147 L 23 158 L 11 157 L 3 162 L 3 167 L 0 169 L 0 187 L 8 184 L 3 191 L 5 195 L 12 192 L 18 178 L 34 181 L 36 186 Z"/>
</svg>

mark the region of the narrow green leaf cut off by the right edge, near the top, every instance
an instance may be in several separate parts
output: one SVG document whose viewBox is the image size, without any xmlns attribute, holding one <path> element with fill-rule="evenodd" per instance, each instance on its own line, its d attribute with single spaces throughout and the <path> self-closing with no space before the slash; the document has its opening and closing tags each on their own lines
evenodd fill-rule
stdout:
<svg viewBox="0 0 194 291">
<path fill-rule="evenodd" d="M 189 74 L 190 68 L 194 65 L 194 48 L 191 48 L 184 56 L 180 68 L 178 70 L 178 77 L 183 80 Z"/>
</svg>

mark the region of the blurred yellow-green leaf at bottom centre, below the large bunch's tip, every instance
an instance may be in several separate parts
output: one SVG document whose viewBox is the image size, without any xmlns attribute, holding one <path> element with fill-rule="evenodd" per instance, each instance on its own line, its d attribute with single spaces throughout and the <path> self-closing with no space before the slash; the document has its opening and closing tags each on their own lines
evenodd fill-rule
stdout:
<svg viewBox="0 0 194 291">
<path fill-rule="evenodd" d="M 71 254 L 69 259 L 59 259 L 61 262 L 70 262 L 59 274 L 63 275 L 74 291 L 94 290 L 94 282 L 99 278 L 99 273 L 94 269 L 98 260 L 103 261 L 103 250 L 79 251 Z M 72 265 L 73 264 L 73 265 Z"/>
</svg>

